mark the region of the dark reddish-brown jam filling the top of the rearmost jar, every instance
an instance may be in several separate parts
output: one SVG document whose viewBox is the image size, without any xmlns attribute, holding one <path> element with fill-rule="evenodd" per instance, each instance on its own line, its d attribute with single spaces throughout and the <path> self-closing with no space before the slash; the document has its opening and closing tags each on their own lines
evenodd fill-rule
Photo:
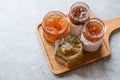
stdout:
<svg viewBox="0 0 120 80">
<path fill-rule="evenodd" d="M 90 18 L 89 12 L 90 9 L 87 4 L 77 2 L 70 9 L 69 19 L 75 25 L 84 24 Z"/>
</svg>

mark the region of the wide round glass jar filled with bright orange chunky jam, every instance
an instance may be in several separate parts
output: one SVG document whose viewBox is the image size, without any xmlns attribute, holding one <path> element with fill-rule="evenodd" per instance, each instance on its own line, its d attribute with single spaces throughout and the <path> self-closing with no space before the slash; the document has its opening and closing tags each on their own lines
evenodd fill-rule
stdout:
<svg viewBox="0 0 120 80">
<path fill-rule="evenodd" d="M 68 33 L 67 18 L 59 11 L 52 11 L 45 15 L 42 27 L 45 39 L 52 44 L 61 36 Z"/>
</svg>

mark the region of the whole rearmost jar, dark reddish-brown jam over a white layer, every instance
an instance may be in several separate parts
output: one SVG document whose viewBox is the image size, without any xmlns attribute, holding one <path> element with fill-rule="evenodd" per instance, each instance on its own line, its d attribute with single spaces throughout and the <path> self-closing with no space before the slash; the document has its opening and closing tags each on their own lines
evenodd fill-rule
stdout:
<svg viewBox="0 0 120 80">
<path fill-rule="evenodd" d="M 89 6 L 83 2 L 74 3 L 69 11 L 70 33 L 78 36 L 89 18 Z"/>
</svg>

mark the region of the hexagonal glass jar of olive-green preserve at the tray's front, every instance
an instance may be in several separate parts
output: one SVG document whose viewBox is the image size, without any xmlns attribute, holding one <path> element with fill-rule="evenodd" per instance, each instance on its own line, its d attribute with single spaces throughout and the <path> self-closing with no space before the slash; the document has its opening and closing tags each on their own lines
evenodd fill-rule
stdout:
<svg viewBox="0 0 120 80">
<path fill-rule="evenodd" d="M 82 60 L 82 43 L 74 35 L 65 35 L 58 39 L 55 49 L 56 61 L 65 67 L 71 68 Z"/>
</svg>

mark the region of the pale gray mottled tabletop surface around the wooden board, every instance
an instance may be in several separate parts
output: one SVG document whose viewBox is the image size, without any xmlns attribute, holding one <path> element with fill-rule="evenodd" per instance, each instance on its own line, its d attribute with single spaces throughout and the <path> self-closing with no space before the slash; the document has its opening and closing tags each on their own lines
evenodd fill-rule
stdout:
<svg viewBox="0 0 120 80">
<path fill-rule="evenodd" d="M 120 80 L 120 29 L 111 56 L 62 75 L 51 73 L 36 25 L 46 13 L 68 13 L 79 0 L 0 0 L 0 80 Z M 101 19 L 120 17 L 120 0 L 82 0 Z"/>
</svg>

